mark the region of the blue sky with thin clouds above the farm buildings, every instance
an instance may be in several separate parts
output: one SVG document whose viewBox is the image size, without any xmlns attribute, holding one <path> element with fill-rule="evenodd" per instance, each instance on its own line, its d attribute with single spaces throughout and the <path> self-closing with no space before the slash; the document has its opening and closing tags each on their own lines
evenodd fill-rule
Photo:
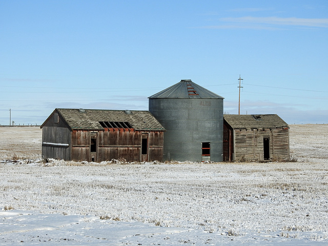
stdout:
<svg viewBox="0 0 328 246">
<path fill-rule="evenodd" d="M 0 0 L 0 125 L 148 110 L 181 79 L 224 113 L 328 124 L 328 2 Z"/>
</svg>

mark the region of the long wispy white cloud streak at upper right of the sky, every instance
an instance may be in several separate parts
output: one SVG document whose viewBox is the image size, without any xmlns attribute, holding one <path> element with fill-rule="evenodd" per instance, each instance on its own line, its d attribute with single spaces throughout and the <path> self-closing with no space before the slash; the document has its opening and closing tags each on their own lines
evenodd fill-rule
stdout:
<svg viewBox="0 0 328 246">
<path fill-rule="evenodd" d="M 328 18 L 297 17 L 224 17 L 220 25 L 206 26 L 208 29 L 265 29 L 276 30 L 281 27 L 328 28 Z"/>
</svg>

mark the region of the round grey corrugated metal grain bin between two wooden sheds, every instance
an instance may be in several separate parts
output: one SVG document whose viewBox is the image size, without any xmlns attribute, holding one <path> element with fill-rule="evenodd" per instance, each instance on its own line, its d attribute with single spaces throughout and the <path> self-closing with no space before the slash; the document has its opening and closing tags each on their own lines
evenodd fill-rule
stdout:
<svg viewBox="0 0 328 246">
<path fill-rule="evenodd" d="M 148 98 L 166 129 L 163 160 L 222 161 L 223 97 L 185 79 Z"/>
</svg>

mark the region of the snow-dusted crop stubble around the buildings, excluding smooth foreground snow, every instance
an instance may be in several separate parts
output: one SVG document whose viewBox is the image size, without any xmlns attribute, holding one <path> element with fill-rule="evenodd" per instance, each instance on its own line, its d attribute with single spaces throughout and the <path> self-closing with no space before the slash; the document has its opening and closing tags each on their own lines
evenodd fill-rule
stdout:
<svg viewBox="0 0 328 246">
<path fill-rule="evenodd" d="M 8 140 L 0 159 L 39 155 L 40 129 L 0 128 L 0 134 Z M 326 238 L 327 136 L 328 125 L 292 125 L 291 153 L 298 162 L 0 165 L 0 204 L 232 235 L 306 231 Z"/>
</svg>

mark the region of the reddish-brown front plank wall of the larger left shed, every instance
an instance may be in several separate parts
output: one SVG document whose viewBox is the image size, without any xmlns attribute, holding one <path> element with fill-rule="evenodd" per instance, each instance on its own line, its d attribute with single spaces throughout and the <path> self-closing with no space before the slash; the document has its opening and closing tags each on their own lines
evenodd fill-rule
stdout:
<svg viewBox="0 0 328 246">
<path fill-rule="evenodd" d="M 92 161 L 90 153 L 91 134 L 97 135 L 94 161 L 124 158 L 141 160 L 142 133 L 148 133 L 148 160 L 162 160 L 163 132 L 135 131 L 134 129 L 107 128 L 104 131 L 73 130 L 72 159 Z"/>
</svg>

